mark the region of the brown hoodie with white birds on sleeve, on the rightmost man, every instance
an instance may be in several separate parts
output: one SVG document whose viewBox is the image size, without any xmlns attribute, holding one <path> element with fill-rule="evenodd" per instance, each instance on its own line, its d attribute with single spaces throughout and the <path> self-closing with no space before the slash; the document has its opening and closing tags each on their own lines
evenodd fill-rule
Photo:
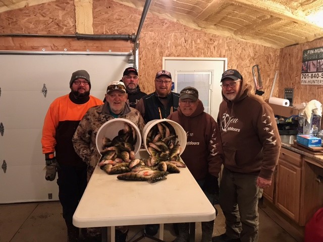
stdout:
<svg viewBox="0 0 323 242">
<path fill-rule="evenodd" d="M 258 173 L 272 179 L 281 148 L 281 139 L 273 109 L 250 94 L 244 86 L 233 101 L 223 94 L 218 124 L 220 127 L 224 166 L 233 172 Z"/>
</svg>

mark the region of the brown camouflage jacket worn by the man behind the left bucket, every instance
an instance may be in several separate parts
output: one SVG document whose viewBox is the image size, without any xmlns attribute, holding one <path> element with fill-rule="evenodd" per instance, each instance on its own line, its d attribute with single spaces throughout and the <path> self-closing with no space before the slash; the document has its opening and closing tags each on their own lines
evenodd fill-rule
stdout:
<svg viewBox="0 0 323 242">
<path fill-rule="evenodd" d="M 142 133 L 145 123 L 137 109 L 129 107 L 126 103 L 125 109 L 118 117 L 129 119 L 138 126 Z M 105 102 L 103 105 L 89 108 L 75 131 L 72 139 L 73 146 L 75 152 L 87 163 L 88 180 L 100 158 L 95 143 L 97 131 L 105 122 L 113 118 L 115 117 L 110 113 L 109 104 Z"/>
</svg>

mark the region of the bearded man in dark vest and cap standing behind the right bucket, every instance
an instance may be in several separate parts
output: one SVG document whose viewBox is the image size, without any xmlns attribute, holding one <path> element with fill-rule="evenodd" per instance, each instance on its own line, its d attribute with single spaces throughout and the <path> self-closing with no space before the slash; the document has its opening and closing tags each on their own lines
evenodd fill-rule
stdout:
<svg viewBox="0 0 323 242">
<path fill-rule="evenodd" d="M 171 92 L 172 75 L 162 70 L 155 76 L 155 92 L 142 97 L 136 108 L 146 123 L 153 119 L 166 118 L 178 108 L 179 94 Z"/>
</svg>

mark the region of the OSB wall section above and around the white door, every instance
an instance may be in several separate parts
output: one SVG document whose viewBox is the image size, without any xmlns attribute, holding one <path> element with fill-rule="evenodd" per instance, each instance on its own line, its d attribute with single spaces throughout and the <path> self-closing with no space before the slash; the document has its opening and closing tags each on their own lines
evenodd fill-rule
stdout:
<svg viewBox="0 0 323 242">
<path fill-rule="evenodd" d="M 155 39 L 159 41 L 154 41 Z M 163 65 L 160 56 L 227 57 L 228 68 L 238 69 L 246 83 L 252 87 L 251 67 L 258 64 L 265 90 L 264 99 L 269 97 L 275 70 L 279 68 L 279 50 L 277 49 L 202 32 L 164 33 L 163 35 L 143 32 L 140 47 L 140 78 L 145 82 L 150 82 L 141 84 L 141 86 L 147 92 L 154 89 L 152 82 L 154 75 Z M 218 81 L 220 85 L 220 80 Z"/>
</svg>

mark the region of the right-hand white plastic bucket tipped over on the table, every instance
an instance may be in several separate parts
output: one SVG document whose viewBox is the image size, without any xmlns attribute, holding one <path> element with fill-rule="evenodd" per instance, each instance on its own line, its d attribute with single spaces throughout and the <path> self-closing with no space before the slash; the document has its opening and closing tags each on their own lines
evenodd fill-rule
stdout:
<svg viewBox="0 0 323 242">
<path fill-rule="evenodd" d="M 148 151 L 148 145 L 147 145 L 147 135 L 149 133 L 149 131 L 152 129 L 152 127 L 154 127 L 155 125 L 157 125 L 158 123 L 161 123 L 161 122 L 167 122 L 169 123 L 170 125 L 173 126 L 174 130 L 175 130 L 175 133 L 177 135 L 177 140 L 181 146 L 181 152 L 180 152 L 180 155 L 184 152 L 185 150 L 185 147 L 186 147 L 186 132 L 185 130 L 183 129 L 183 127 L 176 123 L 175 121 L 173 120 L 170 120 L 170 119 L 166 119 L 166 118 L 163 118 L 163 119 L 153 119 L 151 121 L 149 121 L 145 127 L 143 128 L 142 130 L 142 141 L 143 141 L 143 145 L 146 149 L 146 151 L 149 153 Z M 149 153 L 150 154 L 150 153 Z"/>
</svg>

